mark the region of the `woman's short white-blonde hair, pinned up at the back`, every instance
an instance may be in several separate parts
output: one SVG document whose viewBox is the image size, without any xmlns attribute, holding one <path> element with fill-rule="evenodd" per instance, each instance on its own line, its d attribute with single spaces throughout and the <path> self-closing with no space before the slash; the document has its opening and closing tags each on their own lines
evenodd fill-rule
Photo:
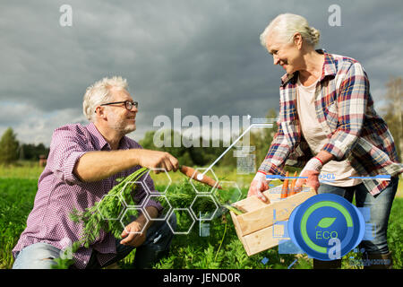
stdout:
<svg viewBox="0 0 403 287">
<path fill-rule="evenodd" d="M 296 32 L 300 33 L 305 43 L 313 46 L 313 48 L 319 43 L 321 33 L 313 27 L 309 26 L 309 23 L 303 16 L 284 13 L 279 14 L 274 18 L 266 29 L 261 34 L 261 44 L 264 48 L 267 47 L 267 37 L 270 33 L 274 32 L 278 39 L 284 43 L 290 43 L 294 40 Z"/>
</svg>

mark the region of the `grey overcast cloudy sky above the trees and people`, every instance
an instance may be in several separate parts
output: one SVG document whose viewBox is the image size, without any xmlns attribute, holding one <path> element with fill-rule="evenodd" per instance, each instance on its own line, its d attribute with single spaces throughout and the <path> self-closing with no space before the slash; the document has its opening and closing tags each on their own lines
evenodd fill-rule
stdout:
<svg viewBox="0 0 403 287">
<path fill-rule="evenodd" d="M 271 0 L 38 0 L 0 3 L 0 134 L 50 143 L 53 130 L 87 123 L 85 89 L 127 78 L 140 102 L 137 131 L 159 115 L 264 117 L 279 108 L 279 77 L 259 35 L 279 13 L 299 13 L 321 31 L 319 48 L 354 57 L 378 103 L 390 76 L 403 75 L 403 2 Z M 60 6 L 73 26 L 60 25 Z M 341 26 L 330 26 L 331 4 Z M 378 104 L 379 105 L 379 104 Z"/>
</svg>

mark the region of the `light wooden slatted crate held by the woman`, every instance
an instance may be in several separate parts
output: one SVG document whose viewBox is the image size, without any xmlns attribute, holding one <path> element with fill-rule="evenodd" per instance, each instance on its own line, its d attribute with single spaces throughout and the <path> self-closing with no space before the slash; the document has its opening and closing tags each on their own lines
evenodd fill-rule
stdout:
<svg viewBox="0 0 403 287">
<path fill-rule="evenodd" d="M 250 196 L 233 204 L 244 211 L 240 215 L 233 212 L 230 214 L 236 234 L 244 244 L 248 256 L 278 246 L 279 240 L 285 238 L 273 236 L 276 229 L 282 226 L 274 223 L 287 221 L 296 206 L 316 195 L 316 192 L 308 187 L 286 198 L 280 198 L 280 191 L 281 186 L 263 192 L 270 199 L 270 204 L 263 203 L 257 196 Z"/>
</svg>

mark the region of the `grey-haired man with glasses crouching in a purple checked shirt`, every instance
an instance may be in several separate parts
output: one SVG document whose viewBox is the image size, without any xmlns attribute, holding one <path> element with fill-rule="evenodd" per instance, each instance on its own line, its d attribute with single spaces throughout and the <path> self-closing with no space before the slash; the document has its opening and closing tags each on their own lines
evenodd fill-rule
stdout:
<svg viewBox="0 0 403 287">
<path fill-rule="evenodd" d="M 169 153 L 142 149 L 125 136 L 136 128 L 138 102 L 133 101 L 121 77 L 104 78 L 91 85 L 84 95 L 83 112 L 89 125 L 62 126 L 53 134 L 27 228 L 13 248 L 13 268 L 51 268 L 65 242 L 80 238 L 80 224 L 69 220 L 73 208 L 83 211 L 94 205 L 117 184 L 116 178 L 141 167 L 168 171 L 178 168 L 178 161 Z M 150 191 L 155 191 L 150 176 L 144 180 Z M 146 191 L 141 187 L 136 190 L 136 199 L 143 204 Z M 162 211 L 162 206 L 151 200 L 144 208 L 150 218 Z M 175 228 L 175 216 L 169 221 Z M 135 267 L 149 267 L 167 251 L 172 238 L 167 222 L 147 222 L 140 214 L 124 228 L 122 239 L 101 232 L 90 248 L 80 248 L 73 255 L 73 267 L 110 265 L 133 248 L 137 248 Z"/>
</svg>

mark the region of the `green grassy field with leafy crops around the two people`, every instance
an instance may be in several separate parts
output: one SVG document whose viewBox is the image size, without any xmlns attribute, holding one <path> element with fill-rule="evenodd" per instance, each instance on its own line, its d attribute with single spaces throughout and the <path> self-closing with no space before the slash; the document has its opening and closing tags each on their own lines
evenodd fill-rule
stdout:
<svg viewBox="0 0 403 287">
<path fill-rule="evenodd" d="M 42 169 L 27 164 L 20 167 L 0 169 L 0 268 L 11 268 L 13 257 L 11 250 L 24 230 L 27 216 L 33 206 L 37 191 L 38 177 Z M 246 195 L 248 183 L 253 176 L 239 180 L 231 170 L 216 170 L 219 179 L 236 181 L 243 196 Z M 225 175 L 222 176 L 222 175 Z M 179 173 L 169 173 L 172 185 L 183 180 Z M 167 175 L 152 175 L 159 190 L 165 189 Z M 402 181 L 402 180 L 400 180 Z M 401 195 L 401 184 L 399 186 Z M 174 206 L 175 207 L 175 206 Z M 180 206 L 177 206 L 180 207 Z M 402 268 L 402 237 L 403 237 L 403 198 L 396 197 L 390 214 L 388 242 L 393 253 L 394 268 Z M 179 215 L 179 214 L 178 214 Z M 186 218 L 178 216 L 179 225 L 188 224 Z M 241 242 L 236 237 L 234 225 L 228 213 L 216 216 L 208 222 L 210 235 L 201 237 L 199 222 L 195 222 L 187 235 L 176 235 L 173 239 L 170 254 L 163 258 L 155 268 L 312 268 L 312 259 L 305 255 L 279 254 L 277 248 L 271 248 L 252 257 L 247 257 Z M 192 244 L 189 244 L 192 242 Z M 130 268 L 133 263 L 134 252 L 118 263 L 120 268 Z M 360 255 L 350 252 L 343 260 L 342 268 L 361 268 L 351 265 L 350 257 L 359 258 Z M 265 260 L 263 260 L 265 259 Z M 268 259 L 268 260 L 267 260 Z M 263 261 L 262 261 L 263 260 Z M 266 262 L 267 261 L 267 262 Z"/>
</svg>

